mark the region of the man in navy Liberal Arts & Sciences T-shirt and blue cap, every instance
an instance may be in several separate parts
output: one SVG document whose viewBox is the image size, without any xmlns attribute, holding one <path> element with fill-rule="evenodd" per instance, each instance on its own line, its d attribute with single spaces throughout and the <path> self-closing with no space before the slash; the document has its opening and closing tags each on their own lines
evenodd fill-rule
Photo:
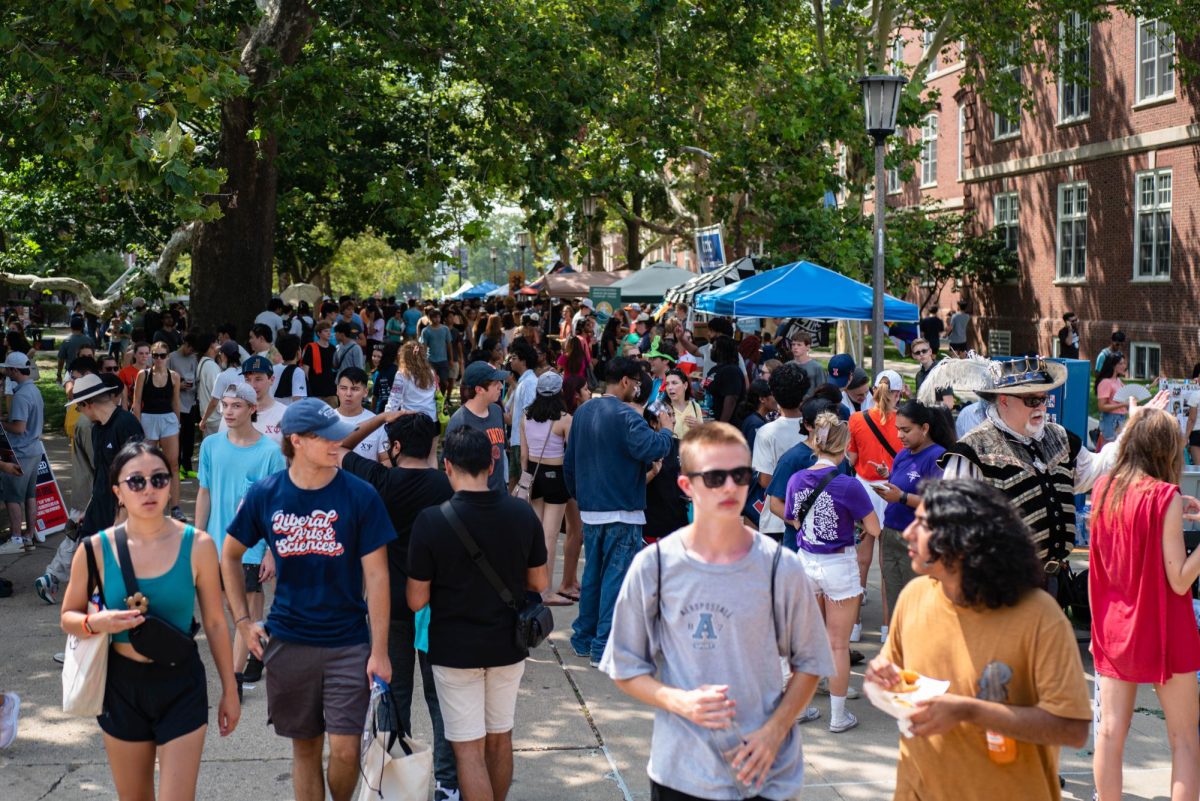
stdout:
<svg viewBox="0 0 1200 801">
<path fill-rule="evenodd" d="M 281 430 L 290 466 L 246 493 L 221 573 L 238 633 L 268 668 L 268 719 L 292 740 L 295 797 L 323 799 L 328 782 L 334 801 L 349 801 L 370 682 L 391 681 L 386 544 L 396 531 L 374 487 L 338 469 L 353 423 L 304 398 L 287 406 Z M 241 566 L 263 540 L 277 577 L 265 625 L 250 616 Z"/>
</svg>

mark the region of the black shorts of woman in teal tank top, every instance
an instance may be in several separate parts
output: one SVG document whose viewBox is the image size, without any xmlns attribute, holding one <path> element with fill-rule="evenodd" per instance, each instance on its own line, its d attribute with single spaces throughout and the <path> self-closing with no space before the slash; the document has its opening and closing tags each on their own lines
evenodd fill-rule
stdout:
<svg viewBox="0 0 1200 801">
<path fill-rule="evenodd" d="M 200 652 L 169 668 L 109 650 L 104 710 L 96 721 L 118 740 L 160 746 L 208 724 L 209 685 Z"/>
</svg>

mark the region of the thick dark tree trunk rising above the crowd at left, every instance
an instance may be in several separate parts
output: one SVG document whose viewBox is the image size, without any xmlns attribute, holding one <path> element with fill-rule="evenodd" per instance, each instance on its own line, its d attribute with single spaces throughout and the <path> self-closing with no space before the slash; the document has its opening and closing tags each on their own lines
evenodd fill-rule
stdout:
<svg viewBox="0 0 1200 801">
<path fill-rule="evenodd" d="M 258 104 L 271 103 L 268 88 L 278 70 L 295 64 L 313 24 L 307 0 L 265 0 L 260 7 L 262 19 L 239 42 L 250 90 L 221 109 L 223 215 L 200 227 L 192 248 L 192 319 L 209 329 L 230 323 L 239 333 L 266 308 L 275 269 L 278 141 L 259 128 Z"/>
</svg>

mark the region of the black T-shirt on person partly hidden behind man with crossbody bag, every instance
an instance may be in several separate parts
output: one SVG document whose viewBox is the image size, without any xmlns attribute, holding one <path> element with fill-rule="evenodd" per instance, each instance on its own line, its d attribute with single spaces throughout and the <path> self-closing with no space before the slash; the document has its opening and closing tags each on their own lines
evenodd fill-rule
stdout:
<svg viewBox="0 0 1200 801">
<path fill-rule="evenodd" d="M 412 620 L 413 610 L 408 608 L 404 585 L 408 583 L 408 541 L 413 520 L 430 506 L 437 506 L 454 495 L 450 480 L 432 468 L 388 468 L 354 452 L 342 459 L 342 469 L 374 487 L 388 508 L 391 526 L 396 529 L 396 538 L 388 543 L 391 619 Z"/>
</svg>

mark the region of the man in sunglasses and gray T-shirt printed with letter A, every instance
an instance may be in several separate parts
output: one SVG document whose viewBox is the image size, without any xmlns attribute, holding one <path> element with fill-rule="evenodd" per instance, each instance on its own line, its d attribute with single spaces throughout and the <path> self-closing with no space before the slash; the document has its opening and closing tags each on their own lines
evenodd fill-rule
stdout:
<svg viewBox="0 0 1200 801">
<path fill-rule="evenodd" d="M 754 470 L 736 428 L 692 429 L 680 460 L 695 523 L 634 559 L 600 669 L 655 707 L 652 799 L 798 797 L 796 719 L 833 671 L 812 586 L 794 554 L 742 524 Z"/>
</svg>

